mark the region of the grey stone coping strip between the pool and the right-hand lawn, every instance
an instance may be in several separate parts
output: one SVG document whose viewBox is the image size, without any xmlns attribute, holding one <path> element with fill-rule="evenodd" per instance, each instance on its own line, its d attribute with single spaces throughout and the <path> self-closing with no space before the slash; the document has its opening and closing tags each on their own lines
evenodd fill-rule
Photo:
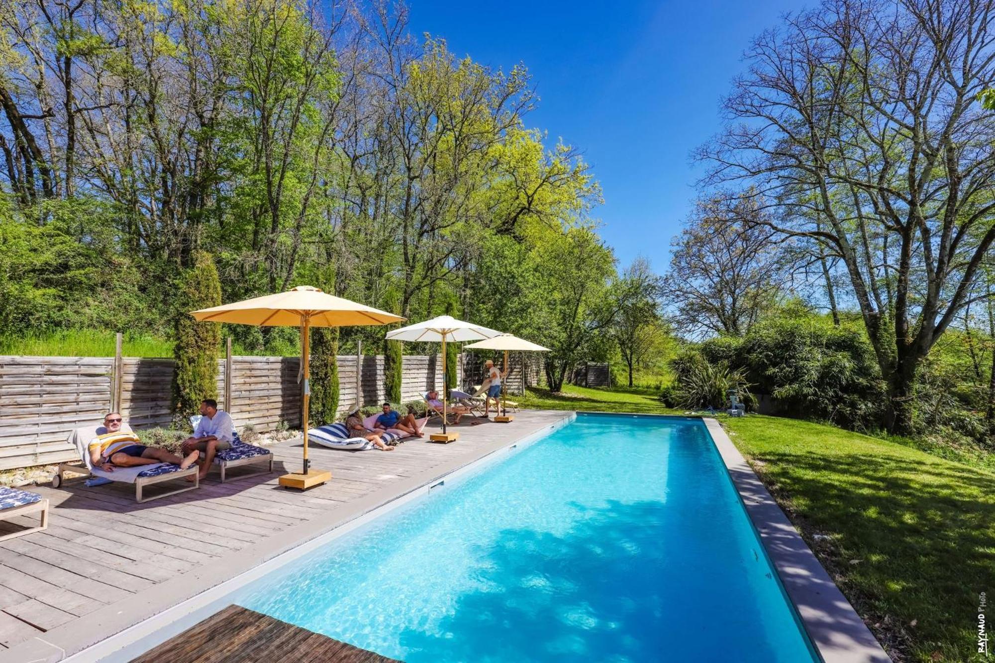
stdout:
<svg viewBox="0 0 995 663">
<path fill-rule="evenodd" d="M 891 657 L 774 501 L 721 424 L 701 417 L 812 645 L 826 663 L 891 663 Z"/>
</svg>

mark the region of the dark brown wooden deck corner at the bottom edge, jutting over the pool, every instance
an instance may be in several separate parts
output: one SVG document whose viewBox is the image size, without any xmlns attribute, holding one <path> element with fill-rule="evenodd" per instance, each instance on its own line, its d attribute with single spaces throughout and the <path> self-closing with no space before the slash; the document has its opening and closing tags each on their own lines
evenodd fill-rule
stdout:
<svg viewBox="0 0 995 663">
<path fill-rule="evenodd" d="M 347 642 L 308 631 L 262 612 L 229 605 L 221 612 L 132 659 L 131 663 L 248 661 L 395 663 Z"/>
</svg>

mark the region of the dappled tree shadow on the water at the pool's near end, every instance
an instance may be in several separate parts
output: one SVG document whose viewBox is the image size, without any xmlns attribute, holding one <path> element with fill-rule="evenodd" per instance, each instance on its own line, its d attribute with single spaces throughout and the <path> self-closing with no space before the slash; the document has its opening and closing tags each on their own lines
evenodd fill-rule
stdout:
<svg viewBox="0 0 995 663">
<path fill-rule="evenodd" d="M 779 658 L 759 624 L 753 571 L 716 568 L 694 541 L 662 540 L 701 533 L 694 510 L 638 502 L 586 511 L 564 536 L 502 532 L 480 552 L 478 588 L 437 629 L 401 633 L 405 660 L 802 660 Z M 730 596 L 734 609 L 721 609 Z"/>
</svg>

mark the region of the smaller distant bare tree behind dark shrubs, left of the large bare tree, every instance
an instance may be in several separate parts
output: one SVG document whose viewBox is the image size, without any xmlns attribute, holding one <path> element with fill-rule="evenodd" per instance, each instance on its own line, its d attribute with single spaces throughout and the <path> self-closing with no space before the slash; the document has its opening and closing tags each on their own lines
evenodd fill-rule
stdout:
<svg viewBox="0 0 995 663">
<path fill-rule="evenodd" d="M 688 228 L 674 240 L 664 284 L 676 331 L 745 333 L 777 302 L 787 271 L 763 216 L 748 194 L 698 201 Z"/>
</svg>

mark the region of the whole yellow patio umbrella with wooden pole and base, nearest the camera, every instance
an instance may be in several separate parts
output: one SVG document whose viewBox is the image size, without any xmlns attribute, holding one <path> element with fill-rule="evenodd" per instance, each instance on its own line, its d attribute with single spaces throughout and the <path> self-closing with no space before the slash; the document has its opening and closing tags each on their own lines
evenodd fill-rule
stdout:
<svg viewBox="0 0 995 663">
<path fill-rule="evenodd" d="M 202 323 L 233 323 L 257 327 L 299 327 L 300 364 L 303 368 L 304 462 L 300 474 L 286 474 L 281 486 L 310 488 L 331 479 L 331 473 L 310 469 L 307 459 L 307 405 L 310 400 L 309 333 L 312 327 L 353 327 L 358 325 L 390 325 L 404 320 L 400 316 L 333 297 L 311 286 L 298 286 L 286 293 L 266 295 L 234 304 L 202 309 L 190 314 Z"/>
</svg>

